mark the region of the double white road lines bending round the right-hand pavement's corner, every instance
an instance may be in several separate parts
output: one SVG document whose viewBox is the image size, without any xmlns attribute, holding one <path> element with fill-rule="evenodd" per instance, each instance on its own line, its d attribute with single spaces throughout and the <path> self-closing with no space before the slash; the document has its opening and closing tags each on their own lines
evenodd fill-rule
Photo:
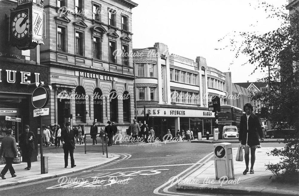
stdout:
<svg viewBox="0 0 299 196">
<path fill-rule="evenodd" d="M 196 162 L 194 165 L 192 165 L 190 168 L 187 168 L 186 170 L 182 171 L 181 173 L 179 173 L 178 175 L 175 176 L 175 178 L 179 178 L 181 175 L 183 175 L 185 172 L 191 170 L 193 167 L 195 167 L 195 165 L 200 164 L 200 162 L 202 162 L 204 159 L 206 159 L 208 157 L 207 160 L 205 160 L 202 164 L 204 164 L 205 162 L 207 162 L 209 159 L 211 159 L 213 157 L 214 152 L 211 152 L 209 154 L 207 154 L 205 157 L 203 157 L 202 159 L 200 159 L 198 162 Z M 212 156 L 211 156 L 212 155 Z M 209 157 L 210 156 L 210 157 Z M 187 175 L 189 175 L 190 173 L 196 171 L 198 168 L 200 168 L 202 166 L 202 164 L 200 164 L 199 166 L 197 166 L 196 168 L 192 169 L 190 172 L 188 172 L 187 174 L 185 174 L 182 179 L 184 179 L 184 177 L 186 177 Z M 172 193 L 172 192 L 168 192 L 168 189 L 173 186 L 171 185 L 172 180 L 168 180 L 166 183 L 162 184 L 161 186 L 159 186 L 158 188 L 156 188 L 153 193 L 157 194 L 157 195 L 169 195 L 169 196 L 173 196 L 174 194 L 180 194 L 180 195 L 199 195 L 199 194 L 190 194 L 190 193 L 173 193 L 172 195 L 170 194 L 165 194 L 165 193 L 159 193 L 159 190 L 161 188 L 163 188 L 164 186 L 166 186 L 167 184 L 170 184 L 170 186 L 167 186 L 166 188 L 163 189 L 163 192 L 167 192 L 167 193 Z"/>
</svg>

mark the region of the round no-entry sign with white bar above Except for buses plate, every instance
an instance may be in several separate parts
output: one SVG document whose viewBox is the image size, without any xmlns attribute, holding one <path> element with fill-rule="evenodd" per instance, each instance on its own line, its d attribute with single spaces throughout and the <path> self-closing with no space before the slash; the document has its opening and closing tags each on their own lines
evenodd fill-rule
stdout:
<svg viewBox="0 0 299 196">
<path fill-rule="evenodd" d="M 49 101 L 49 92 L 44 87 L 37 87 L 32 93 L 32 105 L 36 109 L 43 108 Z"/>
</svg>

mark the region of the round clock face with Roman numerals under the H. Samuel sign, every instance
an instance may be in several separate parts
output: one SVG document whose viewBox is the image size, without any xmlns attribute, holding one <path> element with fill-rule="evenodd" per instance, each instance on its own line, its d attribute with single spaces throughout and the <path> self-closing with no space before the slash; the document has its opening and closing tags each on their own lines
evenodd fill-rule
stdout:
<svg viewBox="0 0 299 196">
<path fill-rule="evenodd" d="M 11 32 L 16 39 L 23 39 L 29 31 L 30 19 L 28 13 L 19 12 L 11 22 Z"/>
</svg>

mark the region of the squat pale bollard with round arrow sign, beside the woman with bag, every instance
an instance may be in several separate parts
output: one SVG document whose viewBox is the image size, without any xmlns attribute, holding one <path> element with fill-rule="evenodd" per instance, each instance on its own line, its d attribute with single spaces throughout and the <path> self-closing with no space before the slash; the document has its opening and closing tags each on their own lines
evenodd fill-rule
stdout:
<svg viewBox="0 0 299 196">
<path fill-rule="evenodd" d="M 231 143 L 224 142 L 213 146 L 216 179 L 235 179 Z"/>
</svg>

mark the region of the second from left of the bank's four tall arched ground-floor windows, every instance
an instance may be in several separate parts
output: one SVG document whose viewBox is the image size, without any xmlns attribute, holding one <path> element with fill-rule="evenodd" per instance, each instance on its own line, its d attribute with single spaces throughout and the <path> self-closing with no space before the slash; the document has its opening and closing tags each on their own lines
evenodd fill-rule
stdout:
<svg viewBox="0 0 299 196">
<path fill-rule="evenodd" d="M 103 93 L 99 88 L 94 89 L 93 104 L 94 121 L 103 122 Z"/>
</svg>

